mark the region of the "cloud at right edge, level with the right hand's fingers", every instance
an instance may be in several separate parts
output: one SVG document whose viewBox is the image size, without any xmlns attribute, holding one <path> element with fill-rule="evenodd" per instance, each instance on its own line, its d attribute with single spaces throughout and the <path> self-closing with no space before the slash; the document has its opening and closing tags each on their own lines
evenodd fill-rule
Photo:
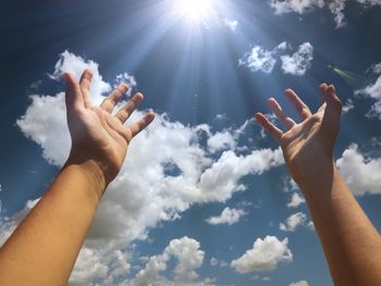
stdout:
<svg viewBox="0 0 381 286">
<path fill-rule="evenodd" d="M 374 64 L 371 70 L 374 74 L 380 74 L 381 63 Z M 381 120 L 381 75 L 379 75 L 373 84 L 368 85 L 364 89 L 356 90 L 355 94 L 374 99 L 376 103 L 371 107 L 367 115 L 369 117 L 378 117 Z"/>
</svg>

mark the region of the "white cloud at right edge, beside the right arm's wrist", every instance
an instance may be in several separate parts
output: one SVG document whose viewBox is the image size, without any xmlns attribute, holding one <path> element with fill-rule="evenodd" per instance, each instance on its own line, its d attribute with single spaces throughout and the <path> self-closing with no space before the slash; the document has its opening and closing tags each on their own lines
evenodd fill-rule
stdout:
<svg viewBox="0 0 381 286">
<path fill-rule="evenodd" d="M 381 158 L 366 158 L 357 145 L 351 145 L 336 165 L 354 195 L 381 194 Z"/>
</svg>

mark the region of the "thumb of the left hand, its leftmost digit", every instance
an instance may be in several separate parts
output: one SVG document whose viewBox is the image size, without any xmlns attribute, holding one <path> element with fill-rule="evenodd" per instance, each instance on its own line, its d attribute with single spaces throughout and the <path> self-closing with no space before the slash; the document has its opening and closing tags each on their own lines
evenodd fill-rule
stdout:
<svg viewBox="0 0 381 286">
<path fill-rule="evenodd" d="M 67 111 L 77 111 L 84 108 L 81 87 L 74 76 L 70 73 L 62 74 L 65 80 L 65 102 Z"/>
</svg>

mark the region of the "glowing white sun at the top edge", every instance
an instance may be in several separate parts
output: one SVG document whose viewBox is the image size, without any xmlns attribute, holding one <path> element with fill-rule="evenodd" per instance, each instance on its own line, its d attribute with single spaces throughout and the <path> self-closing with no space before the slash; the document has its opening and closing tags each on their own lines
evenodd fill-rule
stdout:
<svg viewBox="0 0 381 286">
<path fill-rule="evenodd" d="M 172 0 L 172 13 L 190 24 L 206 24 L 214 13 L 214 0 Z"/>
</svg>

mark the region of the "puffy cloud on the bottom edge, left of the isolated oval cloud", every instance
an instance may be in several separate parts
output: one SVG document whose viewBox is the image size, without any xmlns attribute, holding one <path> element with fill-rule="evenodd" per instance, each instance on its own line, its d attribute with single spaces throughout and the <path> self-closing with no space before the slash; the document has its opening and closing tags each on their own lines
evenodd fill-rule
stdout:
<svg viewBox="0 0 381 286">
<path fill-rule="evenodd" d="M 198 275 L 196 270 L 202 264 L 205 252 L 199 249 L 197 240 L 183 237 L 173 239 L 164 249 L 162 254 L 153 256 L 148 259 L 145 269 L 140 270 L 136 277 L 127 283 L 131 286 L 137 285 L 207 285 L 208 281 L 194 283 Z M 173 279 L 171 282 L 160 273 L 167 270 L 168 261 L 173 257 L 177 264 L 173 270 Z"/>
</svg>

